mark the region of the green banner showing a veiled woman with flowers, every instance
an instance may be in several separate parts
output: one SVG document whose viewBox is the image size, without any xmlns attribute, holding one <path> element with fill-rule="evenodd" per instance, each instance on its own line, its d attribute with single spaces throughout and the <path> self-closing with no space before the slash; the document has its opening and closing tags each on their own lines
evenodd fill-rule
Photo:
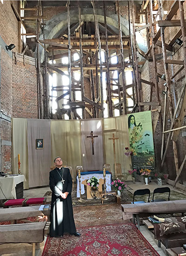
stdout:
<svg viewBox="0 0 186 256">
<path fill-rule="evenodd" d="M 131 155 L 132 167 L 152 170 L 155 168 L 155 158 L 151 111 L 127 116 L 130 148 L 126 151 Z"/>
</svg>

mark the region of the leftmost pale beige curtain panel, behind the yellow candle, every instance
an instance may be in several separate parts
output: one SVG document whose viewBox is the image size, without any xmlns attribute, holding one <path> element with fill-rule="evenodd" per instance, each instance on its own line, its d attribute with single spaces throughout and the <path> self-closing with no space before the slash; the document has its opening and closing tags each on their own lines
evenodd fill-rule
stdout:
<svg viewBox="0 0 186 256">
<path fill-rule="evenodd" d="M 12 118 L 12 172 L 18 173 L 18 154 L 20 154 L 20 170 L 25 175 L 24 189 L 28 185 L 28 147 L 27 147 L 27 119 Z"/>
</svg>

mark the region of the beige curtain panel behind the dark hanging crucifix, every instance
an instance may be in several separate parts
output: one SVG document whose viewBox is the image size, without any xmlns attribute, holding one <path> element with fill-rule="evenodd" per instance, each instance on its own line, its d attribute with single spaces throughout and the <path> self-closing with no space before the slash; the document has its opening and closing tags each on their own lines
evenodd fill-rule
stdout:
<svg viewBox="0 0 186 256">
<path fill-rule="evenodd" d="M 97 135 L 94 138 L 92 153 L 92 139 L 86 136 Z M 102 139 L 102 119 L 92 119 L 81 121 L 81 155 L 84 171 L 103 169 L 103 139 Z"/>
</svg>

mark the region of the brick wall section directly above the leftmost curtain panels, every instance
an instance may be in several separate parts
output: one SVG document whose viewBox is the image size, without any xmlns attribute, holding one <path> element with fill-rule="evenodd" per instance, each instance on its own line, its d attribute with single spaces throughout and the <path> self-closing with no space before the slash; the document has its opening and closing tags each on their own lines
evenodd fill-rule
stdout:
<svg viewBox="0 0 186 256">
<path fill-rule="evenodd" d="M 28 58 L 28 57 L 26 57 Z M 31 62 L 33 60 L 33 64 Z M 31 64 L 30 64 L 31 63 Z M 38 118 L 38 87 L 35 59 L 13 54 L 13 117 Z"/>
</svg>

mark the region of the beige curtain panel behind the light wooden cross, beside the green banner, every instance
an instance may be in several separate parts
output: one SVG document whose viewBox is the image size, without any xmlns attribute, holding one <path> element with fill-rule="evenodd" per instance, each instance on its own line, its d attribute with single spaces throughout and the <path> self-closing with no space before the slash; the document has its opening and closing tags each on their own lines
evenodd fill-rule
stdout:
<svg viewBox="0 0 186 256">
<path fill-rule="evenodd" d="M 129 147 L 127 115 L 103 119 L 103 134 L 105 163 L 111 165 L 112 174 L 114 175 L 113 140 L 109 138 L 112 138 L 113 134 L 119 138 L 115 140 L 116 163 L 121 164 L 123 174 L 128 173 L 131 169 L 131 159 L 124 155 L 125 147 Z"/>
</svg>

